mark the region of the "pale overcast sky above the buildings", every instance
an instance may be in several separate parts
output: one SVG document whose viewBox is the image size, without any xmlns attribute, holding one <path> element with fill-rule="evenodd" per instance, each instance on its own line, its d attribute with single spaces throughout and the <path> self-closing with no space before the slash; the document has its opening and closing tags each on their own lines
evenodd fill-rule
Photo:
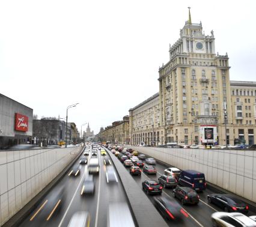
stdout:
<svg viewBox="0 0 256 227">
<path fill-rule="evenodd" d="M 0 2 L 0 93 L 38 117 L 66 117 L 94 132 L 159 90 L 158 69 L 188 19 L 215 32 L 231 80 L 256 81 L 256 1 Z M 83 128 L 85 129 L 85 127 Z"/>
</svg>

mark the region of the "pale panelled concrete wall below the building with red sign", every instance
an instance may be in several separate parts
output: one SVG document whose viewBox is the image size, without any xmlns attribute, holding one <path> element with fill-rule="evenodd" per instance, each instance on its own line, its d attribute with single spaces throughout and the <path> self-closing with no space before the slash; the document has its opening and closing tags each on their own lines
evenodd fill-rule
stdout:
<svg viewBox="0 0 256 227">
<path fill-rule="evenodd" d="M 0 226 L 50 183 L 81 147 L 0 151 Z"/>
</svg>

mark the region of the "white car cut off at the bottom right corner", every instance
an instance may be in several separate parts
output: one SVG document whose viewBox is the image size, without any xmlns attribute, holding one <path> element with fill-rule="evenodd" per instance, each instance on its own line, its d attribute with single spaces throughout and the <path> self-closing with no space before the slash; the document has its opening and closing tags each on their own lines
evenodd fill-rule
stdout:
<svg viewBox="0 0 256 227">
<path fill-rule="evenodd" d="M 213 226 L 241 226 L 241 227 L 256 227 L 256 222 L 250 217 L 241 213 L 215 212 L 212 214 Z"/>
</svg>

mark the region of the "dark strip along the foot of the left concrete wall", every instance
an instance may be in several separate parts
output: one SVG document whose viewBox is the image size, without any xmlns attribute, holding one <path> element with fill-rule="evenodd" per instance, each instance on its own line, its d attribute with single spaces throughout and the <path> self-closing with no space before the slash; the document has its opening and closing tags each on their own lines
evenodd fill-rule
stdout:
<svg viewBox="0 0 256 227">
<path fill-rule="evenodd" d="M 59 148 L 59 149 L 66 149 L 66 148 Z M 73 166 L 73 164 L 76 162 L 76 160 L 79 159 L 82 152 L 84 151 L 85 147 L 81 148 L 81 151 L 79 151 L 76 154 L 76 157 L 70 161 L 70 163 L 62 170 L 62 172 L 57 175 L 52 181 L 50 181 L 49 184 L 47 184 L 46 187 L 44 187 L 41 192 L 39 192 L 34 198 L 31 199 L 31 201 L 28 202 L 21 210 L 19 210 L 16 214 L 14 214 L 11 219 L 9 219 L 7 222 L 2 225 L 3 227 L 9 227 L 9 226 L 19 226 L 19 224 L 26 219 L 26 217 L 31 214 L 33 210 L 40 204 L 44 196 L 47 195 L 47 193 L 50 192 L 53 186 L 55 186 L 56 183 L 58 183 L 59 180 L 61 180 L 64 175 L 67 174 L 67 171 Z M 74 153 L 75 154 L 75 153 Z"/>
</svg>

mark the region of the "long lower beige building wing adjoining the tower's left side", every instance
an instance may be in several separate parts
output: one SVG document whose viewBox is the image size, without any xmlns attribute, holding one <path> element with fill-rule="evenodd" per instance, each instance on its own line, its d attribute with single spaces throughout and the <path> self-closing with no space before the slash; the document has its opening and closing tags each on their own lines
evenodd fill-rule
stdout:
<svg viewBox="0 0 256 227">
<path fill-rule="evenodd" d="M 165 143 L 160 124 L 159 93 L 129 110 L 132 145 L 159 145 Z"/>
</svg>

